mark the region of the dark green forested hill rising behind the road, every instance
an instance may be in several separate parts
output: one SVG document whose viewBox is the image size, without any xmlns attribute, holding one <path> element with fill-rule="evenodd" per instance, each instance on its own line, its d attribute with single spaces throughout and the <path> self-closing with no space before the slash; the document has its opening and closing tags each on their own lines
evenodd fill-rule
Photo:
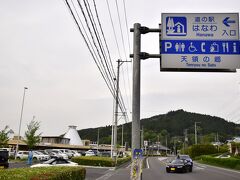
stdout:
<svg viewBox="0 0 240 180">
<path fill-rule="evenodd" d="M 239 124 L 228 122 L 215 116 L 186 112 L 182 109 L 142 119 L 141 127 L 144 129 L 144 139 L 151 142 L 164 141 L 166 134 L 170 141 L 173 137 L 183 139 L 184 130 L 187 129 L 188 143 L 191 145 L 194 141 L 195 122 L 198 122 L 197 131 L 199 138 L 202 138 L 202 142 L 214 141 L 216 140 L 216 137 L 221 141 L 225 141 L 233 136 L 240 135 Z M 112 132 L 111 126 L 82 129 L 79 130 L 78 133 L 82 139 L 97 141 L 98 129 L 100 143 L 110 144 Z M 124 142 L 131 144 L 131 122 L 124 124 L 123 130 Z M 122 142 L 121 138 L 122 126 L 119 126 L 119 144 Z"/>
</svg>

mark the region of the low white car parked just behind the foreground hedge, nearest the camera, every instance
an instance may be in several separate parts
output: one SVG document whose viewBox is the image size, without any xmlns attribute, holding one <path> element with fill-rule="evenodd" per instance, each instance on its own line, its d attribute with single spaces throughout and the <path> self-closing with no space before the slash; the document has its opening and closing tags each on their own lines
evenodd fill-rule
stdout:
<svg viewBox="0 0 240 180">
<path fill-rule="evenodd" d="M 78 166 L 78 164 L 63 158 L 53 158 L 43 163 L 32 165 L 31 168 L 51 166 Z"/>
</svg>

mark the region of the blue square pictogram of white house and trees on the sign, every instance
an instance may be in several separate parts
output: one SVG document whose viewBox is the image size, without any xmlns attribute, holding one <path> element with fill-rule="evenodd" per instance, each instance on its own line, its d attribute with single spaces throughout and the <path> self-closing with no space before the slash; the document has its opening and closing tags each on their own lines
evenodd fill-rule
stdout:
<svg viewBox="0 0 240 180">
<path fill-rule="evenodd" d="M 186 36 L 187 19 L 186 17 L 166 17 L 167 36 Z"/>
</svg>

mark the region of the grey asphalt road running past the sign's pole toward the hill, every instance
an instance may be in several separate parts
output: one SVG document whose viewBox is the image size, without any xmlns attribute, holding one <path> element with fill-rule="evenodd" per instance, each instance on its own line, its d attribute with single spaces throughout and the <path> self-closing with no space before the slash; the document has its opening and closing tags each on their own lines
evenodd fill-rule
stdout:
<svg viewBox="0 0 240 180">
<path fill-rule="evenodd" d="M 233 171 L 194 162 L 193 172 L 188 173 L 167 173 L 167 158 L 150 157 L 147 160 L 147 168 L 143 169 L 143 180 L 239 180 L 240 171 Z M 89 173 L 90 175 L 91 173 Z M 100 174 L 99 174 L 100 175 Z M 88 176 L 87 176 L 88 179 Z M 130 179 L 130 166 L 107 170 L 96 180 L 125 180 Z"/>
</svg>

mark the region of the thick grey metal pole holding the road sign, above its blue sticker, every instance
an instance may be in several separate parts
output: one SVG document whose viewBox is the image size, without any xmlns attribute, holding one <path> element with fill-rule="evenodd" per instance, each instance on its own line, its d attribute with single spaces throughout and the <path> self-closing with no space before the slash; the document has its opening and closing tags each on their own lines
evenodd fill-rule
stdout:
<svg viewBox="0 0 240 180">
<path fill-rule="evenodd" d="M 133 35 L 133 93 L 132 93 L 132 152 L 140 148 L 140 69 L 141 24 L 134 24 Z"/>
</svg>

